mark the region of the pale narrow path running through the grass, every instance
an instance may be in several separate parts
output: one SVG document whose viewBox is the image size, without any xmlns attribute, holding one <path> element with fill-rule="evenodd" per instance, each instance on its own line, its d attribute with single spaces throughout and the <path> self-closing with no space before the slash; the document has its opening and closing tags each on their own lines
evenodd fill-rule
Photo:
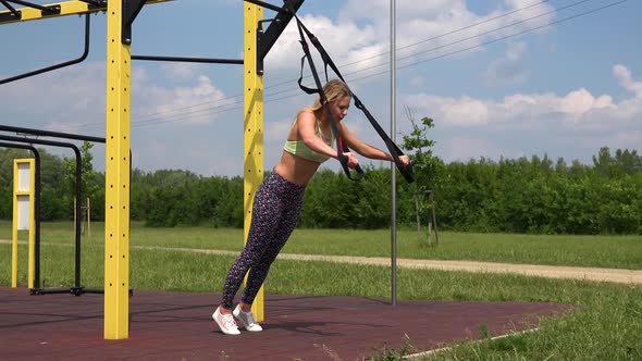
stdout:
<svg viewBox="0 0 642 361">
<path fill-rule="evenodd" d="M 192 248 L 166 248 L 166 247 L 136 247 L 138 249 L 157 249 L 174 250 L 185 252 L 197 252 L 206 254 L 226 254 L 237 256 L 236 251 L 210 250 L 210 249 L 192 249 Z M 383 257 L 357 257 L 357 256 L 321 256 L 321 254 L 296 254 L 281 253 L 282 260 L 303 260 L 303 261 L 326 261 L 353 264 L 374 264 L 390 266 L 391 259 Z M 465 271 L 465 272 L 490 272 L 490 273 L 510 273 L 522 274 L 527 276 L 539 276 L 548 278 L 573 278 L 598 282 L 614 282 L 624 284 L 642 284 L 642 270 L 620 270 L 620 269 L 600 269 L 600 267 L 573 267 L 542 264 L 515 264 L 515 263 L 495 263 L 478 261 L 444 261 L 444 260 L 418 260 L 418 259 L 397 259 L 397 266 L 404 269 L 419 270 L 444 270 L 444 271 Z"/>
</svg>

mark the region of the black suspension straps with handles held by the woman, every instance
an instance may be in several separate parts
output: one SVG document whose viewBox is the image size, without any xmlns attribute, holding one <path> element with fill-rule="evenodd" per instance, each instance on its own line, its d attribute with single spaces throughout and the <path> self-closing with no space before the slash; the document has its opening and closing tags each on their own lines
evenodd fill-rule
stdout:
<svg viewBox="0 0 642 361">
<path fill-rule="evenodd" d="M 310 55 L 310 49 L 309 49 L 308 43 L 306 41 L 306 37 L 304 36 L 304 32 L 306 33 L 306 35 L 310 39 L 310 42 L 312 42 L 314 48 L 317 48 L 317 50 L 319 51 L 319 54 L 321 55 L 321 59 L 323 60 L 325 80 L 328 82 L 328 66 L 330 66 L 334 71 L 334 73 L 338 76 L 338 78 L 344 84 L 346 84 L 346 86 L 347 86 L 347 83 L 344 79 L 344 77 L 342 76 L 337 66 L 332 61 L 332 58 L 330 58 L 330 55 L 328 54 L 328 52 L 325 51 L 325 49 L 323 48 L 323 46 L 319 41 L 319 39 L 301 23 L 300 18 L 297 16 L 297 14 L 296 14 L 294 8 L 292 7 L 292 4 L 289 3 L 289 1 L 284 0 L 284 2 L 285 2 L 285 5 L 288 8 L 289 12 L 293 14 L 294 18 L 296 20 L 298 32 L 299 32 L 299 37 L 300 37 L 299 42 L 301 43 L 301 48 L 304 49 L 304 53 L 305 53 L 304 57 L 301 58 L 301 72 L 300 72 L 300 77 L 298 79 L 299 87 L 307 94 L 318 94 L 319 97 L 321 97 L 321 103 L 325 108 L 325 112 L 328 113 L 328 116 L 330 119 L 330 125 L 332 127 L 332 132 L 335 134 L 335 137 L 336 137 L 337 153 L 339 153 L 338 160 L 344 169 L 344 172 L 346 173 L 348 178 L 350 178 L 353 180 L 360 179 L 363 174 L 362 174 L 362 171 L 359 166 L 357 166 L 357 169 L 355 169 L 355 171 L 357 171 L 357 173 L 358 173 L 358 178 L 355 179 L 349 174 L 349 169 L 347 166 L 347 157 L 343 155 L 343 152 L 347 152 L 347 151 L 349 151 L 349 149 L 347 148 L 346 145 L 343 144 L 343 138 L 341 137 L 341 134 L 338 133 L 338 128 L 336 127 L 336 124 L 334 124 L 334 119 L 332 117 L 332 114 L 330 111 L 330 105 L 328 104 L 328 99 L 325 98 L 325 94 L 323 92 L 323 87 L 321 86 L 321 80 L 319 79 L 319 74 L 317 74 L 314 62 L 312 61 L 312 57 Z M 305 64 L 306 58 L 308 59 L 308 64 L 310 66 L 310 72 L 312 73 L 312 77 L 314 78 L 317 89 L 308 88 L 301 84 L 303 78 L 304 78 L 304 64 Z M 374 129 L 376 130 L 376 133 L 379 134 L 379 136 L 381 137 L 383 142 L 385 144 L 390 154 L 393 157 L 393 161 L 395 162 L 397 170 L 399 170 L 399 173 L 402 173 L 404 178 L 406 178 L 406 182 L 408 182 L 408 183 L 415 182 L 415 173 L 412 172 L 412 166 L 410 164 L 404 165 L 404 163 L 399 160 L 399 157 L 404 155 L 404 152 L 387 136 L 385 130 L 383 130 L 381 125 L 376 122 L 374 116 L 372 116 L 372 114 L 368 111 L 366 105 L 363 105 L 363 103 L 357 97 L 357 95 L 354 94 L 351 90 L 350 90 L 350 94 L 353 96 L 353 99 L 355 100 L 355 107 L 357 107 L 357 109 L 359 109 L 359 110 L 361 110 L 361 112 L 363 112 L 363 114 L 366 115 L 368 121 L 370 121 L 370 124 L 372 125 L 372 127 L 374 127 Z"/>
</svg>

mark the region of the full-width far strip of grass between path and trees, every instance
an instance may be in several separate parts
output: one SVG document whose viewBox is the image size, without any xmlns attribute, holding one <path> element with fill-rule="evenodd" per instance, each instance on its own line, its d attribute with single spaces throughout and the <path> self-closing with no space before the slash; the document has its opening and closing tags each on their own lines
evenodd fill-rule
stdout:
<svg viewBox="0 0 642 361">
<path fill-rule="evenodd" d="M 74 242 L 72 223 L 44 223 L 45 242 Z M 83 245 L 102 245 L 103 224 L 91 224 Z M 11 238 L 11 224 L 0 222 L 0 239 Z M 147 228 L 132 223 L 131 245 L 238 251 L 243 229 L 185 227 Z M 390 257 L 391 232 L 351 229 L 295 229 L 284 253 Z M 641 236 L 547 236 L 440 233 L 440 246 L 419 244 L 417 231 L 397 232 L 399 258 L 471 260 L 642 270 Z"/>
</svg>

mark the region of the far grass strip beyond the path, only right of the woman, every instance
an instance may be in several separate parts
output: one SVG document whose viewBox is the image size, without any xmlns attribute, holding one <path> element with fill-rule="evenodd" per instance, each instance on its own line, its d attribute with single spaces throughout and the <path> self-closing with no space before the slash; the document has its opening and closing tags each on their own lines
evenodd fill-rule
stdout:
<svg viewBox="0 0 642 361">
<path fill-rule="evenodd" d="M 642 269 L 641 236 L 540 236 L 444 232 L 439 247 L 420 244 L 417 231 L 397 232 L 397 256 L 412 259 Z M 390 257 L 391 232 L 296 229 L 293 253 Z"/>
</svg>

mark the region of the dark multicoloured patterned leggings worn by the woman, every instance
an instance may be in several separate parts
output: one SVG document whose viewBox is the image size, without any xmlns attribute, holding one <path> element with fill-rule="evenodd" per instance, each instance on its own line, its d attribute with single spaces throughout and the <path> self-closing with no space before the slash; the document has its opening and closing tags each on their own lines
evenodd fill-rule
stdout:
<svg viewBox="0 0 642 361">
<path fill-rule="evenodd" d="M 305 190 L 304 186 L 285 180 L 275 172 L 266 177 L 255 196 L 247 244 L 225 278 L 221 301 L 224 308 L 232 309 L 234 296 L 248 270 L 240 299 L 247 304 L 254 302 L 270 265 L 296 226 Z"/>
</svg>

